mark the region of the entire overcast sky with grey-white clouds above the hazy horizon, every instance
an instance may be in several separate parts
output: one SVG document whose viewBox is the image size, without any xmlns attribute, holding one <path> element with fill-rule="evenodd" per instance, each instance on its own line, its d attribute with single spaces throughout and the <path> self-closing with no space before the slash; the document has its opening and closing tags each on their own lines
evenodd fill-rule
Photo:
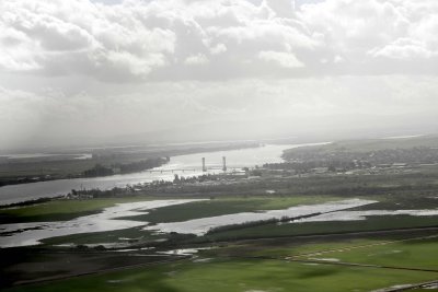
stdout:
<svg viewBox="0 0 438 292">
<path fill-rule="evenodd" d="M 438 130 L 437 74 L 437 0 L 0 1 L 3 149 Z"/>
</svg>

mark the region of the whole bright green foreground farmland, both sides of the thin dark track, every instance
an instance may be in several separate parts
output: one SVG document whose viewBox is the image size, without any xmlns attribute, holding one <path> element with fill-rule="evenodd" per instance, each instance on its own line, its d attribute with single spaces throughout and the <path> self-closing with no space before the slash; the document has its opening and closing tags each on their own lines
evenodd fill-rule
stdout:
<svg viewBox="0 0 438 292">
<path fill-rule="evenodd" d="M 245 252 L 251 248 L 258 250 Z M 201 291 L 205 287 L 209 291 L 372 291 L 436 280 L 437 249 L 436 235 L 424 240 L 354 240 L 280 249 L 237 245 L 222 250 L 220 247 L 199 250 L 189 259 L 170 264 L 4 291 L 183 292 Z"/>
</svg>

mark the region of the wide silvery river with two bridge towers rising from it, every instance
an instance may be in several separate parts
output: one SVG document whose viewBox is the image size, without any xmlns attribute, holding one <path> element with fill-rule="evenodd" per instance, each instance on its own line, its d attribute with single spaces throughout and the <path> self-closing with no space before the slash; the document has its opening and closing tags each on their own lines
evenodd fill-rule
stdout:
<svg viewBox="0 0 438 292">
<path fill-rule="evenodd" d="M 153 172 L 145 171 L 105 177 L 59 179 L 4 186 L 0 187 L 0 205 L 66 195 L 70 192 L 71 189 L 110 189 L 139 183 L 150 183 L 158 179 L 172 180 L 175 174 L 180 176 L 198 176 L 205 174 L 201 171 L 201 157 L 206 159 L 206 166 L 209 167 L 207 173 L 211 174 L 222 172 L 220 170 L 222 156 L 227 157 L 227 166 L 230 171 L 240 170 L 242 167 L 254 167 L 255 165 L 262 165 L 264 163 L 281 162 L 280 155 L 285 149 L 315 144 L 323 143 L 268 144 L 258 148 L 178 155 L 172 156 L 168 164 L 153 168 Z"/>
</svg>

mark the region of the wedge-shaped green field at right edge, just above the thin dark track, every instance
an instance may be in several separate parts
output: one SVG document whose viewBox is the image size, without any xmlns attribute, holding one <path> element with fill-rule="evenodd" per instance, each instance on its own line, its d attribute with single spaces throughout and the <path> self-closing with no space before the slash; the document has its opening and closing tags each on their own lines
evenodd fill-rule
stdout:
<svg viewBox="0 0 438 292">
<path fill-rule="evenodd" d="M 251 250 L 246 246 L 230 247 L 228 253 L 274 258 L 295 259 L 333 258 L 343 262 L 431 269 L 438 272 L 438 234 L 376 237 L 360 240 L 337 240 L 307 245 L 284 244 L 283 246 L 258 246 Z M 438 278 L 438 275 L 437 275 Z"/>
</svg>

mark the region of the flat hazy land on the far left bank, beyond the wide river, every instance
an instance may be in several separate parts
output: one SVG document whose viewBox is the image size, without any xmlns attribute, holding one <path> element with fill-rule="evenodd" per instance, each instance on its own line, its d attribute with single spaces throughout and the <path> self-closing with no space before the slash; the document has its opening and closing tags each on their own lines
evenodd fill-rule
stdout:
<svg viewBox="0 0 438 292">
<path fill-rule="evenodd" d="M 141 165 L 141 162 L 160 157 L 257 148 L 258 145 L 255 142 L 239 142 L 174 145 L 160 150 L 155 147 L 96 149 L 88 155 L 82 154 L 80 159 L 74 159 L 74 156 L 72 159 L 73 154 L 10 155 L 12 159 L 4 155 L 0 160 L 0 188 L 9 185 L 130 174 L 163 165 L 166 161 L 160 164 Z"/>
</svg>

